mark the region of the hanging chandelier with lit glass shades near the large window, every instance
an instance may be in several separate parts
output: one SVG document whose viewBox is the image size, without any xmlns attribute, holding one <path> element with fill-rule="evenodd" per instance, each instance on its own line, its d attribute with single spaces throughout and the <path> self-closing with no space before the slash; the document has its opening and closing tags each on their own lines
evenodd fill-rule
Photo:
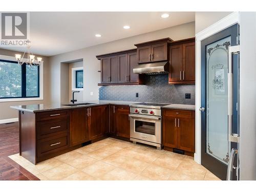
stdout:
<svg viewBox="0 0 256 192">
<path fill-rule="evenodd" d="M 41 63 L 43 63 L 44 61 L 42 61 L 41 57 L 37 57 L 37 60 L 35 60 L 35 55 L 33 55 L 32 51 L 30 51 L 30 40 L 27 40 L 27 48 L 23 54 L 23 56 L 21 54 L 15 54 L 15 57 L 18 61 L 19 65 L 23 65 L 24 63 L 26 65 L 34 65 L 34 66 L 39 66 Z M 24 58 L 25 54 L 27 52 L 27 58 Z"/>
</svg>

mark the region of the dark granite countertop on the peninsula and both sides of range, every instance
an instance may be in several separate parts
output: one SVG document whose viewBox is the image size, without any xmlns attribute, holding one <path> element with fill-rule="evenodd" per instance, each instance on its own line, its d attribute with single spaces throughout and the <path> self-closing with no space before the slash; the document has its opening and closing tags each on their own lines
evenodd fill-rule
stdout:
<svg viewBox="0 0 256 192">
<path fill-rule="evenodd" d="M 42 112 L 42 111 L 53 111 L 53 110 L 63 110 L 63 109 L 72 109 L 72 108 L 81 108 L 84 106 L 97 106 L 103 104 L 115 104 L 115 105 L 130 105 L 134 103 L 138 103 L 138 101 L 112 101 L 112 100 L 92 100 L 92 101 L 82 101 L 79 103 L 92 103 L 87 105 L 80 106 L 66 106 L 61 103 L 51 103 L 51 104 L 29 104 L 29 105 L 17 105 L 11 106 L 12 109 L 27 111 L 27 112 Z M 72 104 L 72 103 L 64 103 L 64 104 Z M 188 104 L 169 104 L 163 106 L 165 109 L 183 109 L 183 110 L 195 110 L 195 105 Z"/>
</svg>

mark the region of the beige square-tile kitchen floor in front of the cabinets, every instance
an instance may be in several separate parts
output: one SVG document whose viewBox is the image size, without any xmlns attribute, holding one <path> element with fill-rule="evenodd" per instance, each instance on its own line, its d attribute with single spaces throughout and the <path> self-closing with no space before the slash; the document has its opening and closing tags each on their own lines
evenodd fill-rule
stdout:
<svg viewBox="0 0 256 192">
<path fill-rule="evenodd" d="M 220 180 L 192 157 L 113 138 L 37 165 L 9 157 L 40 180 Z"/>
</svg>

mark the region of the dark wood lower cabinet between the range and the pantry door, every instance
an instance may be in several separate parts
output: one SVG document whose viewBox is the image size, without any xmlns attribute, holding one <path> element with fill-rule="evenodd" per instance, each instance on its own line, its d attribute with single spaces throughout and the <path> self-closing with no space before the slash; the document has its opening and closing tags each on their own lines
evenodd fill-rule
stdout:
<svg viewBox="0 0 256 192">
<path fill-rule="evenodd" d="M 195 153 L 195 111 L 163 109 L 163 145 L 165 150 L 173 148 Z"/>
</svg>

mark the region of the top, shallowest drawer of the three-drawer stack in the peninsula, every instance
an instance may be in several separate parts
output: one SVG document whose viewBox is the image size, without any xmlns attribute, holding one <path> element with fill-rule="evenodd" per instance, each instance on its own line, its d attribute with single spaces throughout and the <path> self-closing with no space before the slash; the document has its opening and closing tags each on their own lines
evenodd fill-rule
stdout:
<svg viewBox="0 0 256 192">
<path fill-rule="evenodd" d="M 69 115 L 68 110 L 39 112 L 36 114 L 36 120 L 44 121 L 44 120 L 49 120 L 49 119 L 67 118 L 68 115 Z"/>
</svg>

